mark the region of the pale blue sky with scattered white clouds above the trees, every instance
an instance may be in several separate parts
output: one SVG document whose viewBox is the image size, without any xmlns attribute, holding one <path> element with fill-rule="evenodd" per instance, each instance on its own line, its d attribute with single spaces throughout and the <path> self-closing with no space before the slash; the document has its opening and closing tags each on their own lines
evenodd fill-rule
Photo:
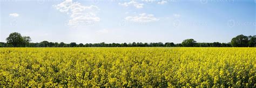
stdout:
<svg viewBox="0 0 256 88">
<path fill-rule="evenodd" d="M 254 0 L 1 0 L 0 42 L 227 43 L 255 35 Z"/>
</svg>

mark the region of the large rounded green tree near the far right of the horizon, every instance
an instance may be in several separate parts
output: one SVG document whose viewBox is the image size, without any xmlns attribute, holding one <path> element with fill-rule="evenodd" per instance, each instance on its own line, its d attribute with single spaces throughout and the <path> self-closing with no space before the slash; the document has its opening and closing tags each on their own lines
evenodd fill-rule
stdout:
<svg viewBox="0 0 256 88">
<path fill-rule="evenodd" d="M 248 37 L 244 35 L 238 35 L 232 38 L 231 45 L 233 47 L 248 47 Z"/>
</svg>

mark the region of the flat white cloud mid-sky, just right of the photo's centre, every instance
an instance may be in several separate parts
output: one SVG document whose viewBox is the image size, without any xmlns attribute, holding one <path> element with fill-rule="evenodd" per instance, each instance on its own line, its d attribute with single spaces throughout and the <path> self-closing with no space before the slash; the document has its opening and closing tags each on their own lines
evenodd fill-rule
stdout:
<svg viewBox="0 0 256 88">
<path fill-rule="evenodd" d="M 146 13 L 139 14 L 139 16 L 129 16 L 125 17 L 125 20 L 132 22 L 155 22 L 159 21 L 158 18 L 154 17 L 154 15 L 147 15 Z"/>
</svg>

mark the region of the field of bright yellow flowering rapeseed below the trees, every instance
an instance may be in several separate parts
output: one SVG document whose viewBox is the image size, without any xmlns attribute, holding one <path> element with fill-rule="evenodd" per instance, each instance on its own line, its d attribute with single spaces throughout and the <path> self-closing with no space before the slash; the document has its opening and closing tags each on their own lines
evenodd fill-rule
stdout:
<svg viewBox="0 0 256 88">
<path fill-rule="evenodd" d="M 1 48 L 0 87 L 256 87 L 255 49 Z"/>
</svg>

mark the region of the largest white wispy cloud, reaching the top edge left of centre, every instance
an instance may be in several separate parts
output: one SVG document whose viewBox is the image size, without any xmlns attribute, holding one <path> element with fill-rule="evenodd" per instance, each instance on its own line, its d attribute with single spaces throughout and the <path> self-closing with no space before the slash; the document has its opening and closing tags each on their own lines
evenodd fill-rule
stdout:
<svg viewBox="0 0 256 88">
<path fill-rule="evenodd" d="M 65 12 L 70 15 L 68 25 L 77 26 L 84 24 L 92 24 L 99 22 L 100 18 L 96 16 L 99 8 L 95 5 L 83 6 L 78 2 L 72 2 L 72 0 L 66 0 L 57 5 L 53 5 L 54 8 L 60 12 Z"/>
</svg>

